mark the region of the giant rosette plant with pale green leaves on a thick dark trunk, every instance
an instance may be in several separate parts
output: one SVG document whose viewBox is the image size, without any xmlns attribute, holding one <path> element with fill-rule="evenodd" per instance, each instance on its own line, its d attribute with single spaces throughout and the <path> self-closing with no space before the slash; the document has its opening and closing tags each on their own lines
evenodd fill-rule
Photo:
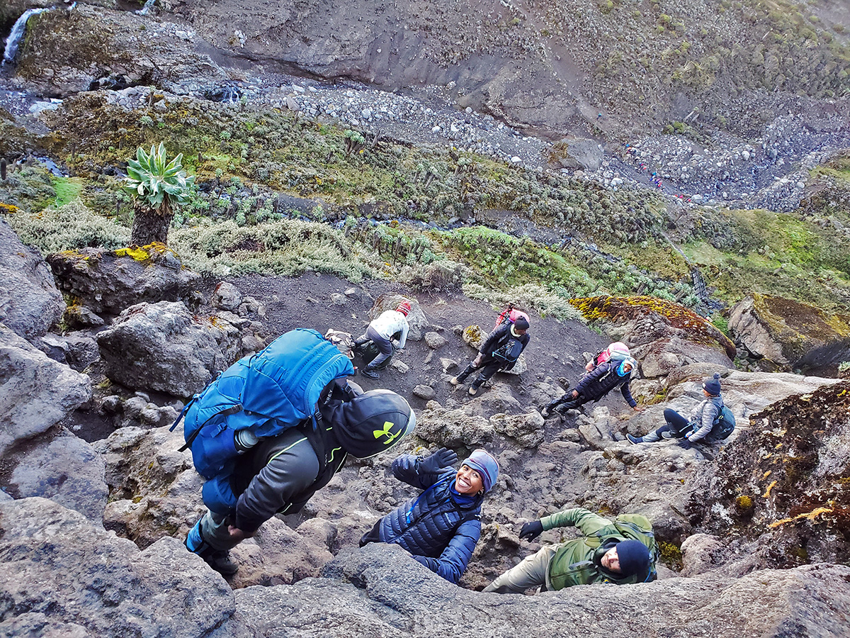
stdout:
<svg viewBox="0 0 850 638">
<path fill-rule="evenodd" d="M 146 246 L 168 242 L 168 227 L 177 208 L 190 202 L 190 186 L 195 176 L 183 169 L 183 153 L 167 160 L 165 143 L 150 147 L 150 153 L 139 146 L 136 158 L 127 162 L 124 190 L 133 196 L 133 230 L 130 243 Z"/>
</svg>

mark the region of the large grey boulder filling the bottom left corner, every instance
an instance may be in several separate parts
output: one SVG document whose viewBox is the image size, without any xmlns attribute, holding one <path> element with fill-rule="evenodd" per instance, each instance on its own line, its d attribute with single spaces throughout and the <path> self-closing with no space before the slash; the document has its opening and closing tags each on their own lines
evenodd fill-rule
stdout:
<svg viewBox="0 0 850 638">
<path fill-rule="evenodd" d="M 0 635 L 239 635 L 224 578 L 176 538 L 140 551 L 53 501 L 23 498 L 0 502 L 0 561 Z"/>
</svg>

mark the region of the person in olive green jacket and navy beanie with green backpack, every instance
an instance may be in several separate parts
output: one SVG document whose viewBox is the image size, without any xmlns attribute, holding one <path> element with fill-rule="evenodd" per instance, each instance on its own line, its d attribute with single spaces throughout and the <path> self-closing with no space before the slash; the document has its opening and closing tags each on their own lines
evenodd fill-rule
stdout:
<svg viewBox="0 0 850 638">
<path fill-rule="evenodd" d="M 637 524 L 636 524 L 637 523 Z M 645 536 L 655 546 L 649 520 L 639 515 L 609 521 L 581 507 L 544 516 L 525 523 L 519 538 L 533 540 L 544 530 L 575 525 L 584 536 L 565 543 L 544 545 L 519 565 L 507 570 L 484 591 L 520 594 L 530 587 L 545 585 L 547 590 L 563 590 L 577 584 L 634 584 L 650 579 L 652 573 L 647 544 L 628 536 Z M 629 530 L 629 535 L 624 533 Z"/>
</svg>

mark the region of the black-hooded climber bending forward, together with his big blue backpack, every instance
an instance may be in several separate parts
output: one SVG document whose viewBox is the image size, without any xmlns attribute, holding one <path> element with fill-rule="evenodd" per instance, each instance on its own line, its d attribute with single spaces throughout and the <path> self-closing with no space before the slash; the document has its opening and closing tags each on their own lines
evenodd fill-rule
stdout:
<svg viewBox="0 0 850 638">
<path fill-rule="evenodd" d="M 409 434 L 416 414 L 390 390 L 348 383 L 348 356 L 309 329 L 281 335 L 235 362 L 195 395 L 184 449 L 207 479 L 207 513 L 185 544 L 224 576 L 238 570 L 229 550 L 275 514 L 301 510 L 343 468 Z"/>
</svg>

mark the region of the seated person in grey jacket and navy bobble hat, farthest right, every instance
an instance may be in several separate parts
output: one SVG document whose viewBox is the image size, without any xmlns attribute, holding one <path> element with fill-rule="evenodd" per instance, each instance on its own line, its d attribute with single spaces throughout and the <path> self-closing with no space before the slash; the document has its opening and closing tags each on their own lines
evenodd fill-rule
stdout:
<svg viewBox="0 0 850 638">
<path fill-rule="evenodd" d="M 626 437 L 632 443 L 655 443 L 663 439 L 676 439 L 679 447 L 689 450 L 694 443 L 716 443 L 728 438 L 735 429 L 732 411 L 720 395 L 720 374 L 705 379 L 702 393 L 706 398 L 694 408 L 690 419 L 685 419 L 670 407 L 664 410 L 666 424 L 643 436 Z"/>
</svg>

